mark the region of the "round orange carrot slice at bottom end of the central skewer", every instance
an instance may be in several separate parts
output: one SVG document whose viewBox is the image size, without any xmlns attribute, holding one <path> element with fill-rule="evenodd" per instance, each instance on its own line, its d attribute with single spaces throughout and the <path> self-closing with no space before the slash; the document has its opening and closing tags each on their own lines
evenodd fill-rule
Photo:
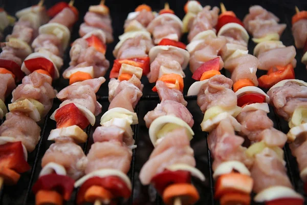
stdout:
<svg viewBox="0 0 307 205">
<path fill-rule="evenodd" d="M 194 204 L 199 200 L 200 195 L 196 188 L 190 183 L 175 183 L 168 186 L 163 192 L 163 201 L 172 205 L 175 198 L 180 198 L 182 204 Z"/>
</svg>

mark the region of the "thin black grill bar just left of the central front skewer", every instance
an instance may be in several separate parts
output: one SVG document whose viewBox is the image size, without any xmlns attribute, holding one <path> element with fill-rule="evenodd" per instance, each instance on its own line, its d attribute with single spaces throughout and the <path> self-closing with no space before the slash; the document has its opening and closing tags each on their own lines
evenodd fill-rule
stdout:
<svg viewBox="0 0 307 205">
<path fill-rule="evenodd" d="M 138 118 L 140 117 L 139 115 L 139 104 L 137 104 L 135 111 L 137 113 Z M 139 131 L 139 124 L 134 126 L 134 140 L 135 140 L 135 145 L 137 145 L 138 143 L 138 131 Z M 137 149 L 133 150 L 132 153 L 132 160 L 131 160 L 131 176 L 130 176 L 130 180 L 131 180 L 131 185 L 132 185 L 132 190 L 131 190 L 131 196 L 129 198 L 129 204 L 132 205 L 133 204 L 133 193 L 134 193 L 134 177 L 135 177 L 135 164 L 136 164 L 136 153 L 137 153 Z"/>
</svg>

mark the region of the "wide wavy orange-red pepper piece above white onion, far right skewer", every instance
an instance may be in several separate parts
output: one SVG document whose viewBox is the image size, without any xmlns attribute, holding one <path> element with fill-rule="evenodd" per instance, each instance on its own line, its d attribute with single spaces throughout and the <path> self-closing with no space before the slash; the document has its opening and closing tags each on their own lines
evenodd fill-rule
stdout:
<svg viewBox="0 0 307 205">
<path fill-rule="evenodd" d="M 261 88 L 271 88 L 279 81 L 285 79 L 295 79 L 292 64 L 288 64 L 286 67 L 275 66 L 271 68 L 267 75 L 262 75 L 258 78 L 258 83 Z"/>
</svg>

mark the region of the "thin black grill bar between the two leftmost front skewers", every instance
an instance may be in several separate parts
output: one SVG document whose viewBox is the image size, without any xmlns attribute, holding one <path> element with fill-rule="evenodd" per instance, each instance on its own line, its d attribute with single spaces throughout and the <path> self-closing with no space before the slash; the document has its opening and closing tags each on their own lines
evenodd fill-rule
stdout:
<svg viewBox="0 0 307 205">
<path fill-rule="evenodd" d="M 52 111 L 50 111 L 50 112 L 52 112 Z M 38 142 L 37 151 L 36 151 L 36 154 L 35 154 L 35 160 L 34 160 L 34 163 L 33 163 L 33 166 L 32 166 L 32 170 L 31 170 L 31 177 L 30 177 L 30 180 L 29 180 L 29 185 L 28 185 L 28 188 L 27 188 L 27 193 L 26 193 L 26 196 L 25 196 L 25 199 L 24 199 L 24 203 L 23 203 L 25 205 L 27 204 L 28 197 L 29 197 L 29 194 L 31 192 L 32 182 L 34 180 L 34 174 L 35 174 L 35 170 L 36 170 L 36 166 L 37 166 L 37 162 L 38 162 L 38 158 L 39 158 L 38 156 L 39 156 L 39 152 L 40 152 L 40 148 L 41 148 L 41 145 L 42 145 L 43 138 L 45 137 L 45 134 L 46 134 L 47 121 L 49 119 L 50 112 L 45 117 L 43 129 L 42 129 L 42 132 L 41 132 L 41 137 L 40 137 L 39 142 Z"/>
</svg>

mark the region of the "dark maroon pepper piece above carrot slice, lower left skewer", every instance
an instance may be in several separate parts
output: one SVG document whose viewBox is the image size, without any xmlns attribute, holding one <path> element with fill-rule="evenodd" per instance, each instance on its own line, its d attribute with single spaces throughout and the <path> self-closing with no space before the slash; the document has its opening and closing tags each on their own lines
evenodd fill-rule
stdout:
<svg viewBox="0 0 307 205">
<path fill-rule="evenodd" d="M 75 180 L 69 176 L 47 174 L 39 177 L 32 191 L 36 194 L 39 190 L 55 190 L 63 196 L 63 199 L 68 201 L 73 193 L 74 183 Z"/>
</svg>

